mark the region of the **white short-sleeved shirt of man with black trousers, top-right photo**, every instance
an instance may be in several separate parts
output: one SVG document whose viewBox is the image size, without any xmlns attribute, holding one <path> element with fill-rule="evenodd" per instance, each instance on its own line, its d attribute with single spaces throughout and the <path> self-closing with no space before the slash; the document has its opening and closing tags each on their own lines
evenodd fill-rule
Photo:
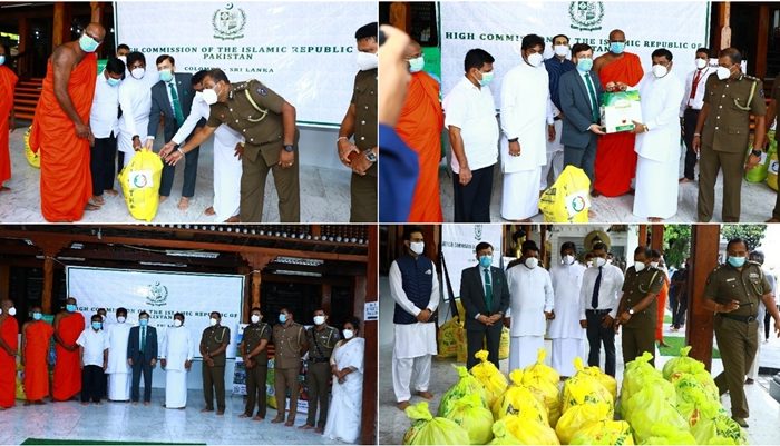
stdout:
<svg viewBox="0 0 780 446">
<path fill-rule="evenodd" d="M 498 121 L 496 101 L 489 87 L 477 87 L 462 78 L 445 97 L 445 127 L 458 127 L 464 140 L 464 151 L 469 168 L 478 170 L 498 161 Z M 454 155 L 452 171 L 460 172 L 460 163 Z"/>
</svg>

